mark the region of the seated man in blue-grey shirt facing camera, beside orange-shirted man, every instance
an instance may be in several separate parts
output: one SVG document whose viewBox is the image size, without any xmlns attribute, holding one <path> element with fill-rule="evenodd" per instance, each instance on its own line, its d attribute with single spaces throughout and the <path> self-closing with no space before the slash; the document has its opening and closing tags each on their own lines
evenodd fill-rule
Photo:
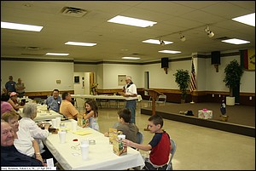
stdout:
<svg viewBox="0 0 256 171">
<path fill-rule="evenodd" d="M 52 95 L 49 96 L 45 103 L 48 106 L 48 109 L 59 112 L 61 106 L 61 97 L 59 96 L 60 91 L 58 89 L 54 89 Z"/>
</svg>

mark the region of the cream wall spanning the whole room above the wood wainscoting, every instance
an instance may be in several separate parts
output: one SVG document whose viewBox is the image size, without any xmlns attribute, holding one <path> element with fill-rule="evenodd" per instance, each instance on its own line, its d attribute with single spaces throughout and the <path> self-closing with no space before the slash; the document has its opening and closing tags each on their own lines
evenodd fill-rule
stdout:
<svg viewBox="0 0 256 171">
<path fill-rule="evenodd" d="M 223 52 L 221 53 L 223 54 Z M 195 75 L 198 91 L 225 91 L 229 92 L 223 82 L 224 67 L 231 60 L 238 60 L 240 56 L 221 57 L 221 65 L 216 72 L 211 59 L 195 58 Z M 150 65 L 125 65 L 125 64 L 99 64 L 81 65 L 72 62 L 42 62 L 42 61 L 13 61 L 1 60 L 2 83 L 8 81 L 9 75 L 13 75 L 14 80 L 20 77 L 26 83 L 26 92 L 32 91 L 52 91 L 54 88 L 62 90 L 72 90 L 73 72 L 95 72 L 98 88 L 111 89 L 122 88 L 118 86 L 118 75 L 125 74 L 132 77 L 137 88 L 144 88 L 144 71 L 149 71 L 149 88 L 178 89 L 175 83 L 177 69 L 191 71 L 191 60 L 181 60 L 169 62 L 168 74 L 160 67 L 160 63 Z M 60 79 L 61 84 L 56 84 Z M 84 77 L 85 79 L 85 77 Z M 255 71 L 244 71 L 241 77 L 241 93 L 255 93 Z"/>
</svg>

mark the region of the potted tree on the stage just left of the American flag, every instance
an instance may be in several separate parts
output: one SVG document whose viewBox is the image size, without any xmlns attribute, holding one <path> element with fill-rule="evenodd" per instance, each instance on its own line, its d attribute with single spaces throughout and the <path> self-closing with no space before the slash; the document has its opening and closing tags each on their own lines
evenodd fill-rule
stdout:
<svg viewBox="0 0 256 171">
<path fill-rule="evenodd" d="M 179 69 L 173 76 L 175 76 L 175 82 L 182 93 L 181 103 L 184 103 L 187 97 L 187 88 L 189 87 L 189 71 Z"/>
</svg>

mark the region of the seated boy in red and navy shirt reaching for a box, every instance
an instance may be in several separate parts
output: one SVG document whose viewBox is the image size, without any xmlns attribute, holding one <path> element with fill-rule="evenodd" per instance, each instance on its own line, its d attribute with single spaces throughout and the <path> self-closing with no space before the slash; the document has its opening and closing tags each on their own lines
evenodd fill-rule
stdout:
<svg viewBox="0 0 256 171">
<path fill-rule="evenodd" d="M 123 140 L 124 145 L 137 148 L 142 151 L 150 151 L 149 158 L 145 158 L 146 170 L 166 170 L 169 162 L 170 151 L 172 150 L 170 136 L 162 129 L 163 118 L 154 115 L 148 118 L 150 133 L 154 133 L 153 139 L 148 145 L 139 145 L 131 140 Z"/>
</svg>

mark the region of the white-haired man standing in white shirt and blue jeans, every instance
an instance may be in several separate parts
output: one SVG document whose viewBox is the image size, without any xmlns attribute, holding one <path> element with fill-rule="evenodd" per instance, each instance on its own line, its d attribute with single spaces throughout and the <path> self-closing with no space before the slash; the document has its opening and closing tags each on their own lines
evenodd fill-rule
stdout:
<svg viewBox="0 0 256 171">
<path fill-rule="evenodd" d="M 131 123 L 135 124 L 135 114 L 136 114 L 136 100 L 137 100 L 137 87 L 134 83 L 131 81 L 131 76 L 125 77 L 125 83 L 124 86 L 124 96 L 125 96 L 125 108 L 128 108 L 131 110 Z"/>
</svg>

